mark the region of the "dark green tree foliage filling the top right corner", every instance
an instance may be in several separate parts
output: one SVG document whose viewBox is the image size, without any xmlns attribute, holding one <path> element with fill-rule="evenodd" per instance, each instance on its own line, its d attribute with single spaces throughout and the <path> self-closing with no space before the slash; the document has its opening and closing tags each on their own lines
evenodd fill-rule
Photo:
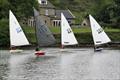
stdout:
<svg viewBox="0 0 120 80">
<path fill-rule="evenodd" d="M 113 4 L 104 6 L 98 14 L 98 19 L 114 28 L 120 28 L 120 0 L 114 0 Z"/>
</svg>

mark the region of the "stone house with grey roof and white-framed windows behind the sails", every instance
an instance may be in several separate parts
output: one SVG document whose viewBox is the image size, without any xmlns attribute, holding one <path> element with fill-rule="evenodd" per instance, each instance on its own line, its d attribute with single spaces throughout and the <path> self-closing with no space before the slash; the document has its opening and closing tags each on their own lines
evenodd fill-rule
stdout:
<svg viewBox="0 0 120 80">
<path fill-rule="evenodd" d="M 42 19 L 49 27 L 58 27 L 61 22 L 61 13 L 65 15 L 69 24 L 74 23 L 75 16 L 70 10 L 57 10 L 48 0 L 38 0 L 39 12 Z M 28 20 L 28 26 L 34 26 L 34 18 Z"/>
</svg>

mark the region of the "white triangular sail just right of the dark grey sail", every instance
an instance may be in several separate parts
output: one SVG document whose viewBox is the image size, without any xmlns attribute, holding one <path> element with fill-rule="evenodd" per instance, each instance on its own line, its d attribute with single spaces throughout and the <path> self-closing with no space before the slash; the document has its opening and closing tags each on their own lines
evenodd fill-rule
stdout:
<svg viewBox="0 0 120 80">
<path fill-rule="evenodd" d="M 61 13 L 61 44 L 62 45 L 76 45 L 78 44 L 73 31 L 66 20 L 63 13 Z"/>
</svg>

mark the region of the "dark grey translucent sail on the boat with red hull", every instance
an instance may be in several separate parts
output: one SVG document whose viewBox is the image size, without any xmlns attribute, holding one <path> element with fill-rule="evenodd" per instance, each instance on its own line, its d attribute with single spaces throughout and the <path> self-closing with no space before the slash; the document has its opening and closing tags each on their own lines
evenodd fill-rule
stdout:
<svg viewBox="0 0 120 80">
<path fill-rule="evenodd" d="M 56 40 L 45 22 L 42 20 L 39 12 L 34 8 L 36 36 L 39 46 L 49 46 L 56 43 Z"/>
</svg>

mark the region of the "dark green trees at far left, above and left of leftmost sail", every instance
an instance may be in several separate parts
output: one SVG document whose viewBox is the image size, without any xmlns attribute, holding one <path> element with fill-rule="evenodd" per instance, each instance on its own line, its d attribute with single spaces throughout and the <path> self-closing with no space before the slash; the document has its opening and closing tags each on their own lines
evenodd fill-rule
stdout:
<svg viewBox="0 0 120 80">
<path fill-rule="evenodd" d="M 38 8 L 37 0 L 0 0 L 0 46 L 9 45 L 9 10 L 22 21 L 33 15 L 33 7 Z"/>
</svg>

